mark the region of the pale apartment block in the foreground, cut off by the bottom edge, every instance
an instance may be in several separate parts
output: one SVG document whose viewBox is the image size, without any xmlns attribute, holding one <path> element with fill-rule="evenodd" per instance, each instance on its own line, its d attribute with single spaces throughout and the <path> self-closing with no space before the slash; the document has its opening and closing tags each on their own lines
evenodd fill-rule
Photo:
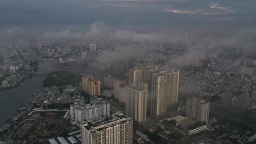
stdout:
<svg viewBox="0 0 256 144">
<path fill-rule="evenodd" d="M 121 112 L 113 113 L 112 120 L 94 124 L 80 124 L 82 144 L 132 144 L 132 118 Z"/>
</svg>

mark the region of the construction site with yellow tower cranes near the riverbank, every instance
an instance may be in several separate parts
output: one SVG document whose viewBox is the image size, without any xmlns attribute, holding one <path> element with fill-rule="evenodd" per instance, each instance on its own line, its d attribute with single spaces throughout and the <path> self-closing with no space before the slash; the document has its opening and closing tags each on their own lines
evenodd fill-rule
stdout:
<svg viewBox="0 0 256 144">
<path fill-rule="evenodd" d="M 65 110 L 33 110 L 24 116 L 10 137 L 9 143 L 38 143 L 48 137 L 59 136 L 69 123 L 69 111 Z"/>
</svg>

